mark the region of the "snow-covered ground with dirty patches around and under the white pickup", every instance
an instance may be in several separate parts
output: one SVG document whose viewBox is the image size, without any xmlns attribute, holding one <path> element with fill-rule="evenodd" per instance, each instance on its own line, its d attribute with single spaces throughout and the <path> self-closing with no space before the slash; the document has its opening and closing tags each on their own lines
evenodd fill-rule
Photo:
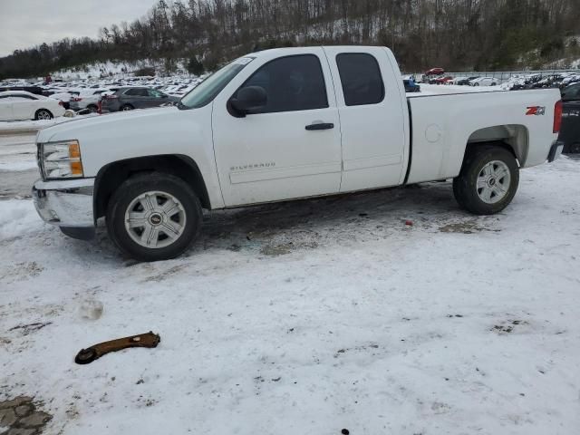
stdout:
<svg viewBox="0 0 580 435">
<path fill-rule="evenodd" d="M 7 182 L 14 150 L 34 164 L 18 147 Z M 522 171 L 494 217 L 449 183 L 214 212 L 156 264 L 0 200 L 0 401 L 34 395 L 64 435 L 575 434 L 579 169 Z M 150 330 L 156 349 L 73 362 Z"/>
</svg>

